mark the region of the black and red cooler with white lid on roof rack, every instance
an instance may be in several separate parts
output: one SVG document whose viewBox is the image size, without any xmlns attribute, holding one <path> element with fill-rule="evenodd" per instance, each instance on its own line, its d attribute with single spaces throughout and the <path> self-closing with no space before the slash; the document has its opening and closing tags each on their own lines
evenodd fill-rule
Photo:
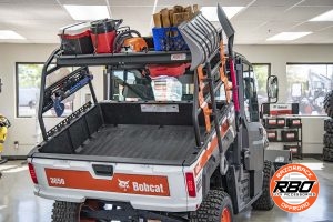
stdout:
<svg viewBox="0 0 333 222">
<path fill-rule="evenodd" d="M 90 23 L 81 22 L 59 30 L 63 54 L 91 54 L 93 47 L 90 38 Z"/>
</svg>

